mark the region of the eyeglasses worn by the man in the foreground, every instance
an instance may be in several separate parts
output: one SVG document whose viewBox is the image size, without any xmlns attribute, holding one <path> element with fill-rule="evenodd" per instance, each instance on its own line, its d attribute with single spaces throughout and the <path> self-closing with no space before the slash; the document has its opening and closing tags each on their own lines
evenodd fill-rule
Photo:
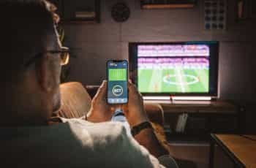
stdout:
<svg viewBox="0 0 256 168">
<path fill-rule="evenodd" d="M 31 58 L 26 64 L 25 67 L 30 66 L 33 64 L 34 61 L 37 61 L 37 58 L 42 57 L 45 53 L 50 53 L 53 56 L 60 56 L 61 58 L 61 66 L 67 65 L 69 63 L 69 48 L 68 47 L 61 47 L 60 50 L 46 50 L 45 52 L 38 53 L 36 56 Z"/>
</svg>

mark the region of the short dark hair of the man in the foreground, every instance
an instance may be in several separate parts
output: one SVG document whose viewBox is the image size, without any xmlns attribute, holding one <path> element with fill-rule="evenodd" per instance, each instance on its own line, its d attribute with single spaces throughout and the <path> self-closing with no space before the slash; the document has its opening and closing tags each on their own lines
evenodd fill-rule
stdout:
<svg viewBox="0 0 256 168">
<path fill-rule="evenodd" d="M 22 66 L 55 31 L 53 11 L 45 0 L 1 0 L 0 21 L 1 60 L 8 73 Z"/>
</svg>

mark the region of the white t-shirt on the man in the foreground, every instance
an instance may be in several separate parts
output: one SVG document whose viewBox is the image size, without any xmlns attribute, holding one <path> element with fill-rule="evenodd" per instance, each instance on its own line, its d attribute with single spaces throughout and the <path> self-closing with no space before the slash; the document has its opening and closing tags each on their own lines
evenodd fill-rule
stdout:
<svg viewBox="0 0 256 168">
<path fill-rule="evenodd" d="M 0 127 L 1 167 L 163 167 L 121 123 L 61 119 L 54 126 Z"/>
</svg>

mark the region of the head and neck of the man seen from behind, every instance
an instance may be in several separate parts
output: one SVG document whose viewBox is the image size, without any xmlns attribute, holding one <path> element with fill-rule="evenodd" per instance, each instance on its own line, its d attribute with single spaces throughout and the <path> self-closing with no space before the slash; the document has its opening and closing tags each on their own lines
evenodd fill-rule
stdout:
<svg viewBox="0 0 256 168">
<path fill-rule="evenodd" d="M 44 124 L 60 107 L 61 44 L 50 4 L 1 0 L 1 107 L 8 123 Z"/>
</svg>

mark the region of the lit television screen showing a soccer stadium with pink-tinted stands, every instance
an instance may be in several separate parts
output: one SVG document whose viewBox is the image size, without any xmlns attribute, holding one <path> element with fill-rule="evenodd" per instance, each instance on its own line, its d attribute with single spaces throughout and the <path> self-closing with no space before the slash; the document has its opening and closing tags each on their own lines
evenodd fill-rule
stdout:
<svg viewBox="0 0 256 168">
<path fill-rule="evenodd" d="M 207 45 L 138 46 L 138 89 L 142 93 L 207 93 Z"/>
</svg>

